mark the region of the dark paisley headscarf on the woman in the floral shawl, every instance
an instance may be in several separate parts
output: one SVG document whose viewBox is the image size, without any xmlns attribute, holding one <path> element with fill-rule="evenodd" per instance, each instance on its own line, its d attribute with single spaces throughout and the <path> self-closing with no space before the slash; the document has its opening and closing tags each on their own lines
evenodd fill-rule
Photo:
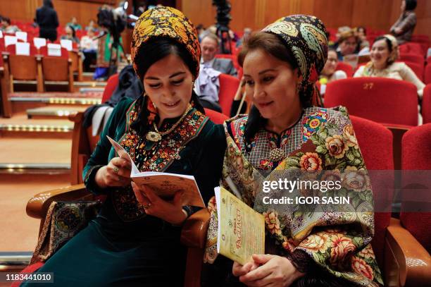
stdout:
<svg viewBox="0 0 431 287">
<path fill-rule="evenodd" d="M 327 31 L 323 22 L 315 16 L 293 15 L 280 18 L 262 31 L 279 36 L 292 51 L 301 73 L 300 97 L 321 106 L 316 80 L 327 59 Z"/>
</svg>

